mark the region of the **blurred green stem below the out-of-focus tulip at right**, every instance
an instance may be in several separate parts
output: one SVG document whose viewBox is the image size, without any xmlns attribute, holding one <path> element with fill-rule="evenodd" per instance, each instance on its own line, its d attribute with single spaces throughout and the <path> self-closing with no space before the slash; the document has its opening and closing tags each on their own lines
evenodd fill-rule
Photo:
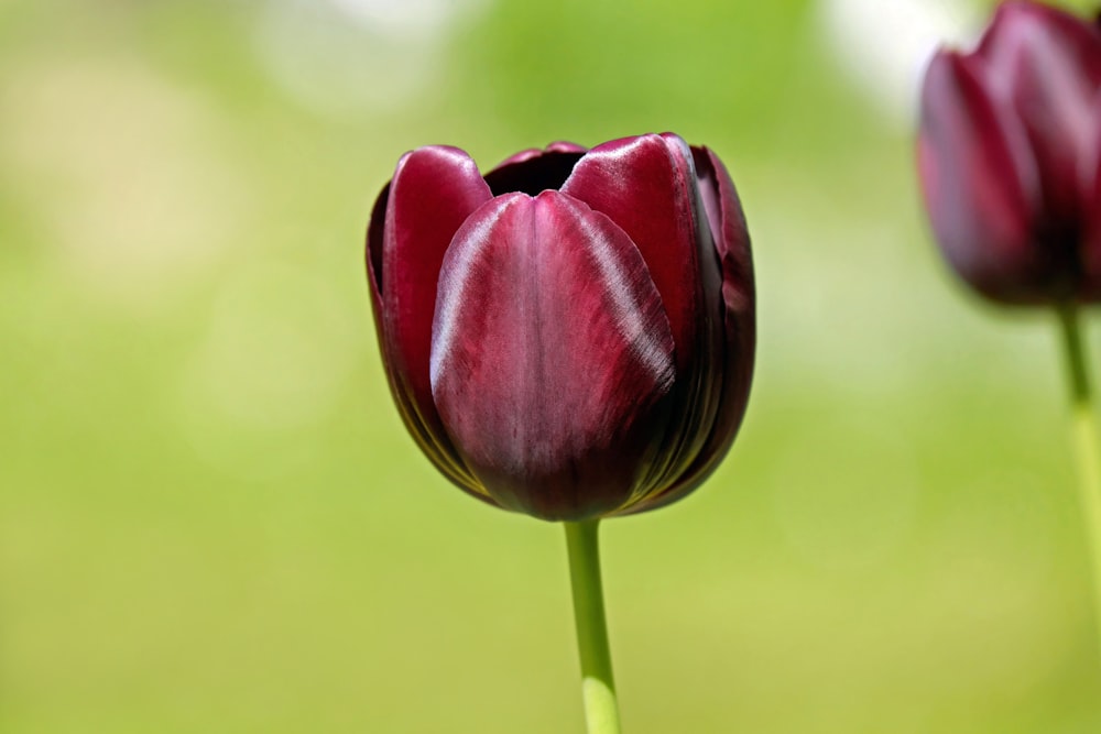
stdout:
<svg viewBox="0 0 1101 734">
<path fill-rule="evenodd" d="M 1101 443 L 1099 443 L 1093 391 L 1086 364 L 1078 308 L 1073 304 L 1060 307 L 1059 321 L 1062 326 L 1062 342 L 1067 355 L 1072 440 L 1078 460 L 1079 501 L 1092 556 L 1090 561 L 1093 571 L 1093 618 L 1098 625 L 1098 644 L 1101 645 L 1101 454 L 1098 453 Z"/>
</svg>

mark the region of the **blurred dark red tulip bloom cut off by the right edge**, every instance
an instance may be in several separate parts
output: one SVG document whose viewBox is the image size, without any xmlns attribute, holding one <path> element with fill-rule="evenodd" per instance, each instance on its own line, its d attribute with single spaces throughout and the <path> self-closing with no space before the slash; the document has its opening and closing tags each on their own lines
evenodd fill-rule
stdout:
<svg viewBox="0 0 1101 734">
<path fill-rule="evenodd" d="M 1007 304 L 1101 299 L 1101 25 L 999 7 L 971 53 L 939 51 L 918 167 L 949 263 Z"/>
</svg>

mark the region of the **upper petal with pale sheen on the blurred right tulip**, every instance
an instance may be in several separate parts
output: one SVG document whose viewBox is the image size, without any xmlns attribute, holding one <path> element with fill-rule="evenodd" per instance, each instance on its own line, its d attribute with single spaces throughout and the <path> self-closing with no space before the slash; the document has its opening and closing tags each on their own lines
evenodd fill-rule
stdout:
<svg viewBox="0 0 1101 734">
<path fill-rule="evenodd" d="M 1079 166 L 1092 145 L 1093 100 L 1101 89 L 1101 30 L 1049 6 L 1002 4 L 978 56 L 998 94 L 1028 129 L 1048 207 L 1075 217 Z"/>
</svg>

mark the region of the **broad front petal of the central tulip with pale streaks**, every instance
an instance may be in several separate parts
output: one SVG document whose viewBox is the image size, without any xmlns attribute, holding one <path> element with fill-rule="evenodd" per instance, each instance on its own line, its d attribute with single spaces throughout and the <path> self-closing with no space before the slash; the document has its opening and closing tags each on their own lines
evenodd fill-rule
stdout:
<svg viewBox="0 0 1101 734">
<path fill-rule="evenodd" d="M 444 261 L 433 396 L 501 505 L 545 519 L 630 496 L 674 381 L 661 296 L 630 238 L 557 191 L 499 197 Z"/>
</svg>

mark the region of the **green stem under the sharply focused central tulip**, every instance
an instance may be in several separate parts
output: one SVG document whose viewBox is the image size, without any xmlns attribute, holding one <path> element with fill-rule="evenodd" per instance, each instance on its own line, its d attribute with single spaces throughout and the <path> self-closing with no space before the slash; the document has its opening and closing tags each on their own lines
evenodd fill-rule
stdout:
<svg viewBox="0 0 1101 734">
<path fill-rule="evenodd" d="M 600 583 L 600 521 L 565 523 L 569 552 L 569 578 L 574 589 L 577 647 L 581 654 L 581 699 L 589 734 L 619 734 L 619 708 L 612 658 L 608 649 L 608 624 Z"/>
</svg>

